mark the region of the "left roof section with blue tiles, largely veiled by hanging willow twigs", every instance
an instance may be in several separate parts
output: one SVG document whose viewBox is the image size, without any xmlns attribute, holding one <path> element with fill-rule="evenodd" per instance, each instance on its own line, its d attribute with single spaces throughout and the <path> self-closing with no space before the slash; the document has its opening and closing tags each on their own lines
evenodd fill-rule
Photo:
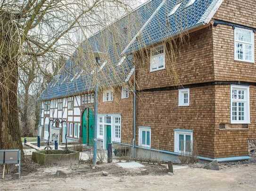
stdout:
<svg viewBox="0 0 256 191">
<path fill-rule="evenodd" d="M 92 69 L 86 69 L 86 62 L 91 59 L 86 52 L 102 52 L 107 54 L 109 60 L 98 74 L 103 75 L 101 81 L 104 81 L 104 83 L 108 85 L 124 82 L 132 69 L 132 63 L 130 62 L 132 56 L 127 56 L 121 66 L 118 66 L 118 62 L 122 59 L 120 54 L 124 50 L 124 47 L 126 47 L 137 34 L 142 25 L 147 22 L 150 15 L 152 15 L 160 3 L 161 0 L 150 0 L 137 8 L 133 13 L 122 17 L 107 27 L 107 29 L 97 32 L 81 43 L 72 58 L 66 62 L 60 75 L 55 76 L 41 93 L 39 100 L 66 97 L 90 91 L 91 88 L 93 88 L 93 80 L 99 77 L 94 76 L 96 75 L 95 73 L 91 74 Z M 127 32 L 125 33 L 124 30 L 127 30 Z M 85 54 L 83 54 L 84 57 L 81 60 L 81 65 L 79 65 L 74 60 L 78 57 L 78 52 L 81 48 L 84 50 Z M 108 65 L 111 65 L 111 67 L 107 67 Z M 85 70 L 82 75 L 78 78 L 74 78 L 75 75 L 82 70 Z M 115 78 L 113 78 L 114 72 L 119 72 L 119 75 Z"/>
</svg>

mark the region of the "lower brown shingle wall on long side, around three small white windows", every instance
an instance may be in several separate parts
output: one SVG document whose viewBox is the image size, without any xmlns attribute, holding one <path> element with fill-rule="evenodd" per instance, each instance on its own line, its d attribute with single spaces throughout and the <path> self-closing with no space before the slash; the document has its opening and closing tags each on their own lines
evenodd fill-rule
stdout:
<svg viewBox="0 0 256 191">
<path fill-rule="evenodd" d="M 190 106 L 178 106 L 178 90 L 141 92 L 137 99 L 139 127 L 151 128 L 151 147 L 174 151 L 174 129 L 193 130 L 198 154 L 214 155 L 214 86 L 190 88 Z"/>
</svg>

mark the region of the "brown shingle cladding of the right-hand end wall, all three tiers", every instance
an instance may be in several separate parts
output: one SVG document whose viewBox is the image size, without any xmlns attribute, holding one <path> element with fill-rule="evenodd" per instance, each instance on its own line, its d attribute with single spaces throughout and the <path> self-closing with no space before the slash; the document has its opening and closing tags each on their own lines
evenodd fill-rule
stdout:
<svg viewBox="0 0 256 191">
<path fill-rule="evenodd" d="M 255 0 L 223 0 L 214 18 L 256 28 L 255 13 Z M 216 81 L 256 82 L 255 63 L 234 61 L 234 30 L 231 26 L 219 24 L 213 27 L 213 48 Z M 215 158 L 248 155 L 248 140 L 256 139 L 255 98 L 256 87 L 251 85 L 248 129 L 240 129 L 237 125 L 237 129 L 220 130 L 220 123 L 230 124 L 230 85 L 215 86 Z"/>
</svg>

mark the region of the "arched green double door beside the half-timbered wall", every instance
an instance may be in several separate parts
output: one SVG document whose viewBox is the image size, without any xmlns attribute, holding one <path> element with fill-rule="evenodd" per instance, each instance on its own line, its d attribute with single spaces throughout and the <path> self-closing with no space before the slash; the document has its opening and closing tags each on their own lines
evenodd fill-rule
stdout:
<svg viewBox="0 0 256 191">
<path fill-rule="evenodd" d="M 94 144 L 94 112 L 86 108 L 82 116 L 82 138 L 83 144 L 93 146 Z"/>
</svg>

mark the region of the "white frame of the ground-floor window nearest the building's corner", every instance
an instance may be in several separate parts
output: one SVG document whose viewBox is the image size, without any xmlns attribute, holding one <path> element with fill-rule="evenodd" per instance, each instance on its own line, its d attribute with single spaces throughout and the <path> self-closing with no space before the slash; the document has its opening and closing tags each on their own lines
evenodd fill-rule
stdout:
<svg viewBox="0 0 256 191">
<path fill-rule="evenodd" d="M 186 135 L 190 135 L 190 149 L 191 152 L 193 149 L 193 130 L 174 130 L 174 153 L 186 153 L 189 154 L 190 152 L 186 152 L 186 151 L 180 151 L 179 150 L 179 146 L 180 146 L 180 135 L 184 135 L 184 150 L 186 150 Z"/>
</svg>

